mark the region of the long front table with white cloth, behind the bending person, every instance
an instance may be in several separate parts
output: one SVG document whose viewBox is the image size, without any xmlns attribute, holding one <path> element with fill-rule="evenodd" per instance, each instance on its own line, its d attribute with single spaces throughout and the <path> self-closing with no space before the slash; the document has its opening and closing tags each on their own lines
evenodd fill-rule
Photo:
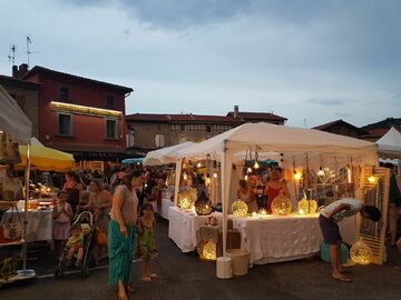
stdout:
<svg viewBox="0 0 401 300">
<path fill-rule="evenodd" d="M 241 247 L 250 252 L 251 266 L 310 257 L 320 251 L 323 242 L 317 213 L 228 218 L 241 232 Z M 355 218 L 345 219 L 346 222 L 339 226 L 342 232 L 345 231 L 345 234 L 342 233 L 344 241 L 353 243 L 356 236 Z"/>
</svg>

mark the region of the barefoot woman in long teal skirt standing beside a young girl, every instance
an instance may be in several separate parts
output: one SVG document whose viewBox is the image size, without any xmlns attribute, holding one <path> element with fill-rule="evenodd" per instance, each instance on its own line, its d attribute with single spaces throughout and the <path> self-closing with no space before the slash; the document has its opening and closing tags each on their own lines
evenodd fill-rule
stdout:
<svg viewBox="0 0 401 300">
<path fill-rule="evenodd" d="M 141 187 L 141 170 L 134 170 L 123 179 L 113 197 L 111 220 L 108 227 L 109 284 L 118 284 L 118 299 L 128 299 L 127 291 L 134 252 L 138 198 L 135 189 Z"/>
</svg>

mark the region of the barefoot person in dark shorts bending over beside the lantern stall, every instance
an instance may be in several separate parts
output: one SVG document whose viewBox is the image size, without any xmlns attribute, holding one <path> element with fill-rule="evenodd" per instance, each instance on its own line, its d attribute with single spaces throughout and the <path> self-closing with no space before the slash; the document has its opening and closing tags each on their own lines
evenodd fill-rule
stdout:
<svg viewBox="0 0 401 300">
<path fill-rule="evenodd" d="M 323 208 L 319 216 L 319 224 L 322 230 L 324 242 L 329 244 L 330 260 L 332 264 L 332 278 L 350 282 L 351 279 L 343 274 L 344 268 L 341 264 L 340 247 L 342 238 L 340 234 L 339 222 L 346 217 L 361 213 L 362 218 L 378 222 L 381 212 L 373 206 L 364 206 L 361 201 L 352 198 L 340 199 Z"/>
</svg>

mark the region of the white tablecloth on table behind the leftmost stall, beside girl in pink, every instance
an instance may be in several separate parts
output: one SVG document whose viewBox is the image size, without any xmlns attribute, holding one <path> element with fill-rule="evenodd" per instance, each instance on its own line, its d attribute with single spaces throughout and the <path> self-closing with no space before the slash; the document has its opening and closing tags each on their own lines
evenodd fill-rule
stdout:
<svg viewBox="0 0 401 300">
<path fill-rule="evenodd" d="M 25 211 L 19 211 L 21 221 L 23 222 Z M 8 210 L 2 222 L 18 221 L 16 211 Z M 23 226 L 23 224 L 22 224 Z M 51 210 L 46 211 L 28 211 L 27 241 L 48 241 L 52 240 L 52 217 Z"/>
</svg>

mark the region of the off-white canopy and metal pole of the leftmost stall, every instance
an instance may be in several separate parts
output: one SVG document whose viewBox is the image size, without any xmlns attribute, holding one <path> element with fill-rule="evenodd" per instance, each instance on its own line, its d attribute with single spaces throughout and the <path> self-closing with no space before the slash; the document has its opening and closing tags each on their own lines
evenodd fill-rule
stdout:
<svg viewBox="0 0 401 300">
<path fill-rule="evenodd" d="M 27 144 L 27 168 L 26 168 L 26 204 L 25 220 L 28 219 L 29 177 L 30 177 L 30 141 L 32 123 L 19 108 L 16 100 L 0 86 L 0 131 L 11 134 L 18 142 Z M 18 279 L 23 280 L 36 277 L 33 270 L 27 269 L 27 241 L 25 239 L 28 222 L 23 222 L 22 229 L 22 260 L 23 270 L 18 271 Z"/>
</svg>

